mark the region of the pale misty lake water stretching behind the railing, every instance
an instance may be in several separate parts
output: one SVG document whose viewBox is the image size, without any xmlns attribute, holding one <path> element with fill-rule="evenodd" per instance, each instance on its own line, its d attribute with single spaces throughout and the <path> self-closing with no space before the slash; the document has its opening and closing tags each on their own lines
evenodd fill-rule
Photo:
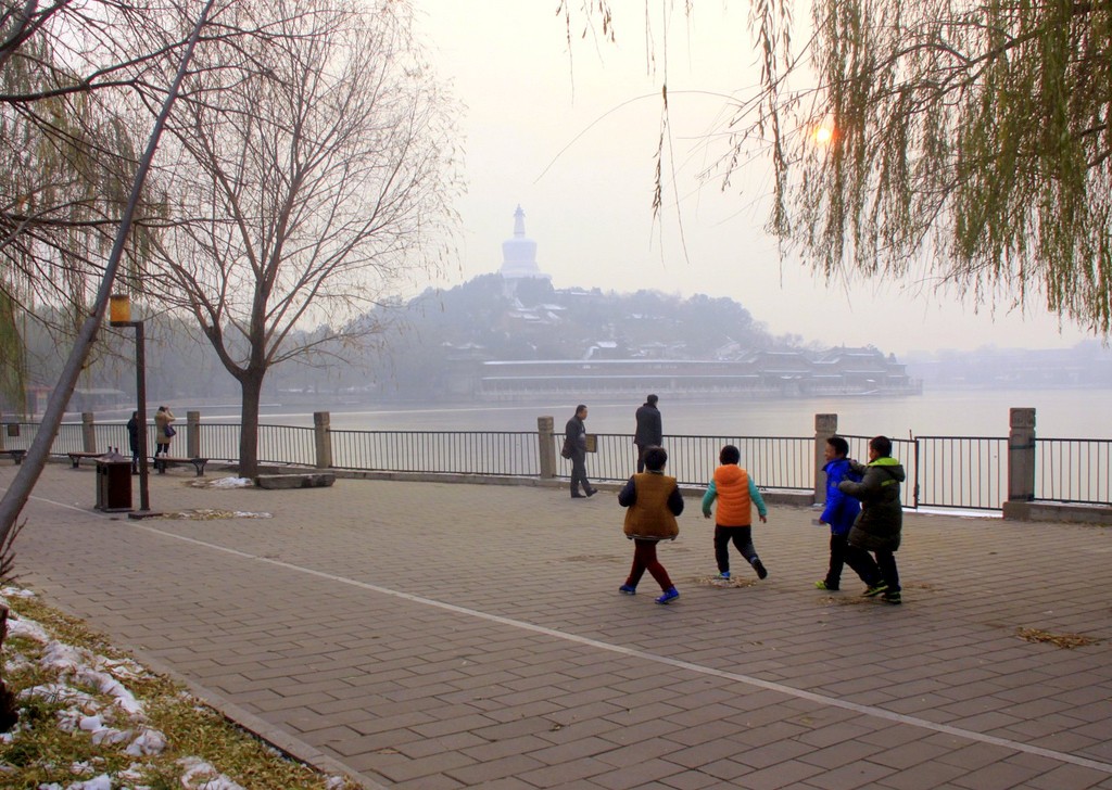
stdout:
<svg viewBox="0 0 1112 790">
<path fill-rule="evenodd" d="M 587 402 L 592 433 L 633 433 L 634 410 L 643 401 Z M 840 398 L 747 398 L 673 400 L 662 398 L 665 433 L 672 436 L 814 436 L 816 413 L 836 413 L 843 433 L 894 438 L 915 436 L 1005 437 L 1009 409 L 1036 410 L 1044 439 L 1112 439 L 1112 390 L 943 390 L 922 396 Z M 182 404 L 185 406 L 185 404 Z M 177 406 L 176 406 L 177 409 Z M 348 407 L 331 410 L 337 430 L 535 431 L 537 417 L 555 420 L 556 430 L 575 403 L 495 403 L 460 406 Z M 177 409 L 183 414 L 185 409 Z M 265 424 L 312 426 L 312 412 L 265 406 Z M 238 413 L 201 410 L 206 422 L 237 422 Z"/>
</svg>

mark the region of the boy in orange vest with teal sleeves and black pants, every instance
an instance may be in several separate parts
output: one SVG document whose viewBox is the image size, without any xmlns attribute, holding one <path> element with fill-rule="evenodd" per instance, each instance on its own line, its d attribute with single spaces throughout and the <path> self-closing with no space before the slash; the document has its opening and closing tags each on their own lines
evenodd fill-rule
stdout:
<svg viewBox="0 0 1112 790">
<path fill-rule="evenodd" d="M 711 506 L 718 500 L 714 519 L 714 559 L 718 563 L 718 578 L 729 578 L 729 541 L 748 560 L 757 578 L 768 576 L 761 558 L 753 548 L 753 506 L 757 506 L 761 523 L 767 523 L 768 509 L 749 473 L 737 466 L 741 451 L 726 444 L 718 453 L 721 467 L 714 470 L 714 479 L 703 496 L 703 518 L 711 518 Z"/>
</svg>

